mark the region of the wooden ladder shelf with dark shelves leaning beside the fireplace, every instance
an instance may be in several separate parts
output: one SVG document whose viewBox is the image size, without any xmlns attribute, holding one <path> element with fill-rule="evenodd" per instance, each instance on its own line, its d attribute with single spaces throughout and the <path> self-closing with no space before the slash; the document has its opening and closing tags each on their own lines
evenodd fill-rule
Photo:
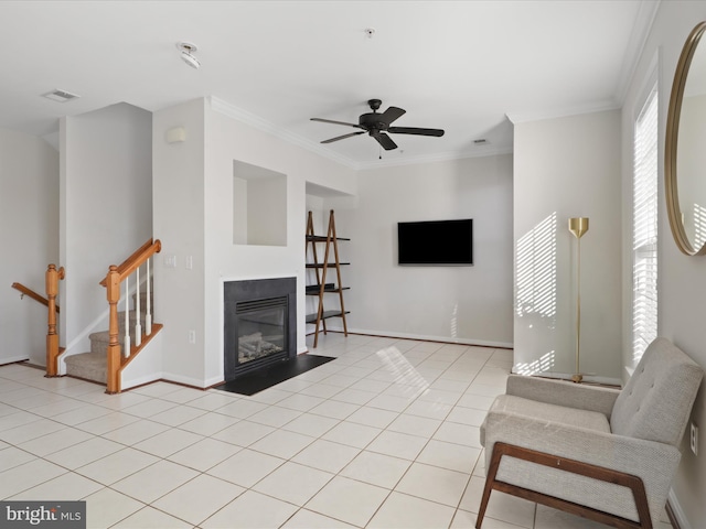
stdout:
<svg viewBox="0 0 706 529">
<path fill-rule="evenodd" d="M 343 287 L 341 282 L 341 267 L 350 264 L 349 262 L 341 262 L 339 259 L 339 241 L 351 240 L 336 237 L 335 234 L 335 220 L 333 216 L 333 209 L 329 214 L 329 229 L 325 236 L 315 235 L 313 229 L 313 215 L 309 212 L 307 217 L 307 237 L 306 237 L 306 253 L 310 262 L 307 262 L 307 269 L 313 269 L 315 272 L 315 283 L 307 285 L 307 295 L 318 298 L 317 312 L 307 315 L 307 323 L 315 325 L 313 346 L 319 345 L 319 332 L 323 331 L 327 334 L 327 320 L 330 317 L 340 317 L 343 322 L 343 333 L 349 335 L 347 324 L 345 322 L 345 315 L 350 314 L 345 310 L 343 302 L 343 291 L 349 290 L 349 287 Z M 317 244 L 324 245 L 323 260 L 319 261 L 319 253 L 317 251 Z M 311 255 L 309 256 L 309 248 L 311 245 Z M 333 248 L 333 261 L 330 261 L 331 249 Z M 335 269 L 335 278 L 333 281 L 327 283 L 327 276 L 329 269 Z M 329 277 L 329 280 L 332 278 Z M 324 294 L 338 294 L 339 307 L 334 310 L 324 310 Z"/>
</svg>

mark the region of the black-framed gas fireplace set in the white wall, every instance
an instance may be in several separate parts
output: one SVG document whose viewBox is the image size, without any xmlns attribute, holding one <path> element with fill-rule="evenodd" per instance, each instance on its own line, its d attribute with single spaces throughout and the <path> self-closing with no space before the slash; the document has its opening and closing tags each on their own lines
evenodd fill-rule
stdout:
<svg viewBox="0 0 706 529">
<path fill-rule="evenodd" d="M 297 356 L 297 279 L 224 283 L 226 381 Z"/>
</svg>

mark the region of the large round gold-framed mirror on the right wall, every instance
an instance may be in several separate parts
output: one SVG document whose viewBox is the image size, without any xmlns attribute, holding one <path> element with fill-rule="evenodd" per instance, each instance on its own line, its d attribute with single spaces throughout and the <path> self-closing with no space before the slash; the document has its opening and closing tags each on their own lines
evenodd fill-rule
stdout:
<svg viewBox="0 0 706 529">
<path fill-rule="evenodd" d="M 688 35 L 674 74 L 664 179 L 670 226 L 688 256 L 706 253 L 706 22 Z"/>
</svg>

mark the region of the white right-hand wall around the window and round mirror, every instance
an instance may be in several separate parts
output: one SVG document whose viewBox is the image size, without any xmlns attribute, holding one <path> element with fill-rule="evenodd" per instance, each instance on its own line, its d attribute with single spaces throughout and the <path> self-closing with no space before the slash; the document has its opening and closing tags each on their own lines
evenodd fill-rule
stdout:
<svg viewBox="0 0 706 529">
<path fill-rule="evenodd" d="M 632 127 L 637 106 L 644 89 L 655 57 L 660 60 L 660 212 L 659 212 L 659 334 L 672 339 L 702 367 L 706 367 L 706 258 L 686 257 L 677 249 L 668 226 L 666 202 L 664 197 L 664 134 L 670 94 L 676 63 L 682 46 L 692 29 L 706 20 L 706 2 L 668 1 L 662 2 L 655 17 L 652 31 L 645 43 L 634 78 L 630 85 L 622 112 L 622 183 L 623 183 L 623 233 L 625 268 L 630 258 L 631 219 L 631 179 L 632 179 Z M 706 43 L 702 42 L 702 46 Z M 706 119 L 704 116 L 702 119 Z M 629 278 L 629 270 L 624 276 Z M 630 284 L 625 281 L 625 313 L 629 313 Z M 623 339 L 623 363 L 632 366 L 630 327 L 625 324 Z M 705 393 L 702 390 L 694 404 L 692 419 L 702 427 L 706 425 Z M 686 438 L 686 436 L 685 436 Z M 672 505 L 683 529 L 698 529 L 706 520 L 706 446 L 700 443 L 702 454 L 694 456 L 688 441 L 682 443 L 682 463 L 673 484 Z"/>
</svg>

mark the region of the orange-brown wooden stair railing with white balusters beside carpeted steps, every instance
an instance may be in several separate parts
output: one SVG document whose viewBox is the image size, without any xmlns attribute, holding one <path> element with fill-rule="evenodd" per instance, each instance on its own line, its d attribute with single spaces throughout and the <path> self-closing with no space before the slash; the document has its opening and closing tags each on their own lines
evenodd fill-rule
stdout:
<svg viewBox="0 0 706 529">
<path fill-rule="evenodd" d="M 108 274 L 100 282 L 106 288 L 106 295 L 109 305 L 109 325 L 108 325 L 108 365 L 107 365 L 107 393 L 120 392 L 120 370 L 127 365 L 127 363 L 137 353 L 139 353 L 141 346 L 146 344 L 147 338 L 152 336 L 152 332 L 157 331 L 157 326 L 152 325 L 152 307 L 150 301 L 150 258 L 154 253 L 159 253 L 162 249 L 160 240 L 148 240 L 138 248 L 130 257 L 128 257 L 120 266 L 110 266 Z M 147 289 L 147 307 L 145 316 L 145 332 L 142 332 L 141 321 L 141 307 L 140 307 L 140 267 L 145 264 L 146 268 L 146 289 Z M 135 345 L 130 344 L 130 316 L 129 316 L 129 302 L 128 295 L 130 291 L 129 277 L 135 272 L 136 274 L 136 302 L 135 312 L 137 316 L 137 324 L 135 325 Z M 118 302 L 120 301 L 120 284 L 125 283 L 125 336 L 124 345 L 120 347 L 118 341 L 119 323 L 118 323 Z M 160 325 L 161 328 L 161 325 Z M 122 354 L 121 354 L 122 350 Z"/>
</svg>

